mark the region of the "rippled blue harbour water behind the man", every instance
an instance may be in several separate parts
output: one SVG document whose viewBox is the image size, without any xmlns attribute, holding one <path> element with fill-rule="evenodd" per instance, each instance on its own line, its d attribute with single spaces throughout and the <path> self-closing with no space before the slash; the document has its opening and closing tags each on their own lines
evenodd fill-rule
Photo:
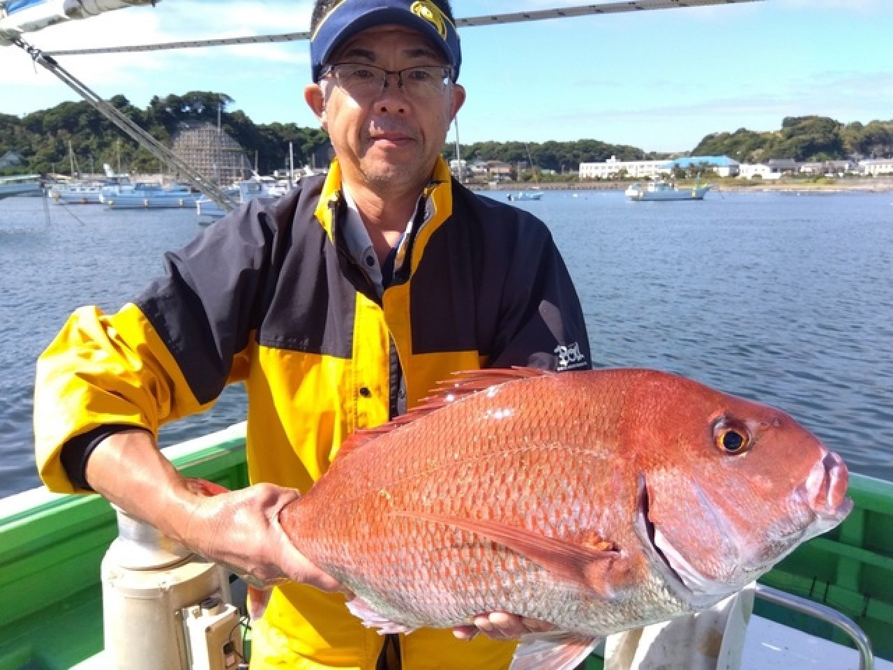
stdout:
<svg viewBox="0 0 893 670">
<path fill-rule="evenodd" d="M 649 203 L 549 191 L 514 205 L 552 230 L 597 366 L 653 367 L 778 406 L 855 472 L 893 480 L 893 193 Z M 0 200 L 0 495 L 39 484 L 35 361 L 66 317 L 116 311 L 199 230 L 191 210 Z M 244 418 L 232 387 L 161 440 Z"/>
</svg>

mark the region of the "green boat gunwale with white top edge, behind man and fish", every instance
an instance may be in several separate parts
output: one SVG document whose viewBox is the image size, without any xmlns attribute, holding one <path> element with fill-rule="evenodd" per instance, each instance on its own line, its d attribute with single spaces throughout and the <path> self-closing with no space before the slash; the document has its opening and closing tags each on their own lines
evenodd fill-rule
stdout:
<svg viewBox="0 0 893 670">
<path fill-rule="evenodd" d="M 165 448 L 188 476 L 247 485 L 245 424 Z M 852 619 L 876 657 L 893 661 L 893 482 L 852 474 L 853 512 L 806 542 L 760 582 Z M 103 649 L 99 564 L 117 534 L 98 496 L 44 488 L 0 501 L 0 670 L 63 670 Z M 839 628 L 758 598 L 755 613 L 852 647 Z M 600 666 L 598 659 L 592 664 Z"/>
</svg>

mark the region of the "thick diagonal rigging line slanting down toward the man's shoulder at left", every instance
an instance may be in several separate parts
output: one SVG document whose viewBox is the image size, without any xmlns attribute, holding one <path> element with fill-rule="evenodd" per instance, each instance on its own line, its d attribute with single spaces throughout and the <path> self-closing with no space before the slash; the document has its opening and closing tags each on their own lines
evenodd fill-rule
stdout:
<svg viewBox="0 0 893 670">
<path fill-rule="evenodd" d="M 220 205 L 224 212 L 229 212 L 238 205 L 238 202 L 233 197 L 230 197 L 229 194 L 224 192 L 216 184 L 205 179 L 204 176 L 201 173 L 196 172 L 191 165 L 183 161 L 169 148 L 164 147 L 163 144 L 147 133 L 146 130 L 140 128 L 134 121 L 131 121 L 126 114 L 121 113 L 113 105 L 109 105 L 90 88 L 75 79 L 71 72 L 66 71 L 59 63 L 56 63 L 52 56 L 43 53 L 36 46 L 27 44 L 22 41 L 21 38 L 13 39 L 13 44 L 24 49 L 34 63 L 46 68 L 46 70 L 52 72 L 60 80 L 63 80 L 65 84 L 92 105 L 97 112 L 103 114 L 109 121 L 112 121 L 118 128 L 127 133 L 130 138 L 136 140 L 140 147 L 145 148 L 146 151 L 154 155 L 160 161 L 170 165 L 173 169 L 183 175 L 192 186 L 204 193 L 205 196 L 210 197 L 217 203 L 217 205 Z"/>
</svg>

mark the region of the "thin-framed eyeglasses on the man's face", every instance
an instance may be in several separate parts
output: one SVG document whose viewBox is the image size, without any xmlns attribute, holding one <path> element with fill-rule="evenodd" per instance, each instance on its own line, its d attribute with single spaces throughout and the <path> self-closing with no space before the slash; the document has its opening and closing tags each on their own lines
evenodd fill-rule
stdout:
<svg viewBox="0 0 893 670">
<path fill-rule="evenodd" d="M 403 70 L 385 70 L 375 65 L 338 63 L 327 65 L 320 79 L 331 77 L 347 95 L 357 100 L 380 96 L 388 87 L 388 75 L 396 74 L 396 86 L 407 96 L 426 100 L 441 96 L 453 80 L 453 68 L 447 65 L 419 65 Z"/>
</svg>

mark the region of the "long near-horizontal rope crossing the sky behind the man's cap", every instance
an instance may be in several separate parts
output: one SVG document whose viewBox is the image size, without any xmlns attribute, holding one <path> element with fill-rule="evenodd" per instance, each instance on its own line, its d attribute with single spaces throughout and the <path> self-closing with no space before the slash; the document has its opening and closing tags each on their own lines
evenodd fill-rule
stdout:
<svg viewBox="0 0 893 670">
<path fill-rule="evenodd" d="M 642 12 L 654 9 L 679 9 L 682 7 L 703 7 L 710 4 L 738 4 L 764 2 L 764 0 L 626 0 L 625 2 L 583 4 L 579 7 L 563 7 L 544 9 L 535 12 L 518 12 L 507 14 L 490 14 L 457 19 L 456 26 L 469 28 L 473 26 L 493 26 L 503 23 L 520 23 L 523 21 L 544 21 L 546 19 L 570 19 L 593 14 L 613 14 L 624 12 Z M 87 54 L 123 54 L 139 51 L 164 51 L 169 49 L 188 49 L 203 46 L 231 46 L 243 44 L 268 44 L 271 42 L 295 42 L 310 39 L 310 32 L 287 32 L 275 35 L 255 35 L 244 38 L 192 39 L 182 42 L 166 42 L 163 44 L 104 46 L 91 49 L 69 49 L 49 51 L 48 55 L 87 55 Z"/>
</svg>

